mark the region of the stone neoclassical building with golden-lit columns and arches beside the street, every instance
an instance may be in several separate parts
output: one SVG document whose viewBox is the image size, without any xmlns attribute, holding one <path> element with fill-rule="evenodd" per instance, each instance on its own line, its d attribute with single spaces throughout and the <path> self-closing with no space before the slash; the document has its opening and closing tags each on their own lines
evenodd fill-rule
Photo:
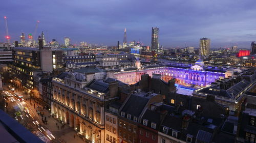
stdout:
<svg viewBox="0 0 256 143">
<path fill-rule="evenodd" d="M 104 108 L 127 84 L 91 66 L 53 78 L 52 114 L 89 142 L 104 142 Z"/>
</svg>

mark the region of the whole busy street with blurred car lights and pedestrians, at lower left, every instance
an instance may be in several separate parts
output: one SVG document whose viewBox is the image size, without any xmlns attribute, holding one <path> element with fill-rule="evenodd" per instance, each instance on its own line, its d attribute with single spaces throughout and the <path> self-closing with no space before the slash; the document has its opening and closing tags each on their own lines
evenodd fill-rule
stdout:
<svg viewBox="0 0 256 143">
<path fill-rule="evenodd" d="M 9 90 L 4 85 L 4 93 L 6 98 L 6 110 L 13 114 L 15 119 L 37 135 L 44 142 L 84 142 L 79 138 L 73 128 L 68 124 L 62 125 L 51 117 L 50 111 L 42 107 L 42 105 L 29 98 L 22 91 Z M 20 98 L 22 97 L 22 98 Z"/>
</svg>

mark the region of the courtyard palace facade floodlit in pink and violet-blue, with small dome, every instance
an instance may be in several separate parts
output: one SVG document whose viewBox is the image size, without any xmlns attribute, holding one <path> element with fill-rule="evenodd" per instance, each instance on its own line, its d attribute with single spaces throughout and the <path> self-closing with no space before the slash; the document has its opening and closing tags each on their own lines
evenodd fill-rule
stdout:
<svg viewBox="0 0 256 143">
<path fill-rule="evenodd" d="M 136 63 L 135 68 L 116 69 L 113 70 L 115 77 L 127 84 L 134 84 L 141 79 L 141 75 L 148 74 L 152 76 L 154 73 L 161 74 L 161 78 L 165 81 L 175 78 L 176 83 L 185 86 L 198 85 L 204 87 L 215 82 L 217 79 L 232 76 L 233 72 L 226 68 L 205 67 L 201 60 L 198 60 L 195 65 L 178 65 L 178 64 L 163 64 L 141 66 Z"/>
</svg>

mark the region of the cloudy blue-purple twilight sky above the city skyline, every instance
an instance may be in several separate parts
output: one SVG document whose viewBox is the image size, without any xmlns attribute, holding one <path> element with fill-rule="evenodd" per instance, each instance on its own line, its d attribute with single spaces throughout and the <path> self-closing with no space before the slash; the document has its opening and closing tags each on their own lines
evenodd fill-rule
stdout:
<svg viewBox="0 0 256 143">
<path fill-rule="evenodd" d="M 8 17 L 11 41 L 20 33 L 45 32 L 48 41 L 70 37 L 80 41 L 116 45 L 141 41 L 151 45 L 151 27 L 159 27 L 164 47 L 199 46 L 211 39 L 211 47 L 238 44 L 249 48 L 256 41 L 255 0 L 3 0 L 0 2 L 0 42 L 5 40 L 4 16 Z"/>
</svg>

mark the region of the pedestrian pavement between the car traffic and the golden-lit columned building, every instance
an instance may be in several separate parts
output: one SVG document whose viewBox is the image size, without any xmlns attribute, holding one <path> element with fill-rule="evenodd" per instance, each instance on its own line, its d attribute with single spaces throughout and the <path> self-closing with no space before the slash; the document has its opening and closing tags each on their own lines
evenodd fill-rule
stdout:
<svg viewBox="0 0 256 143">
<path fill-rule="evenodd" d="M 4 90 L 8 90 L 7 85 L 4 85 L 3 88 Z M 84 143 L 85 142 L 80 137 L 77 136 L 77 133 L 75 132 L 74 128 L 69 127 L 69 124 L 64 125 L 63 128 L 61 129 L 62 124 L 59 123 L 54 118 L 52 118 L 48 110 L 42 109 L 42 106 L 40 104 L 36 104 L 37 101 L 34 101 L 33 99 L 31 99 L 31 103 L 32 103 L 31 105 L 30 100 L 25 100 L 26 98 L 28 98 L 28 95 L 26 95 L 24 92 L 20 90 L 15 90 L 14 93 L 17 95 L 24 96 L 24 101 L 27 103 L 27 106 L 29 107 L 30 111 L 33 112 L 33 115 L 38 119 L 37 121 L 41 123 L 41 125 L 45 125 L 45 127 L 48 128 L 56 138 L 58 138 L 59 142 L 66 142 L 66 143 L 69 143 L 69 142 Z M 35 107 L 34 107 L 34 102 L 35 102 Z M 47 125 L 42 123 L 42 120 L 41 120 L 42 117 L 39 116 L 38 113 L 36 112 L 37 106 L 38 108 L 42 109 L 41 111 L 44 114 L 43 119 L 45 119 L 46 117 L 46 120 L 48 121 Z M 59 126 L 59 128 L 57 126 Z M 74 135 L 75 135 L 75 138 L 74 138 Z"/>
</svg>

